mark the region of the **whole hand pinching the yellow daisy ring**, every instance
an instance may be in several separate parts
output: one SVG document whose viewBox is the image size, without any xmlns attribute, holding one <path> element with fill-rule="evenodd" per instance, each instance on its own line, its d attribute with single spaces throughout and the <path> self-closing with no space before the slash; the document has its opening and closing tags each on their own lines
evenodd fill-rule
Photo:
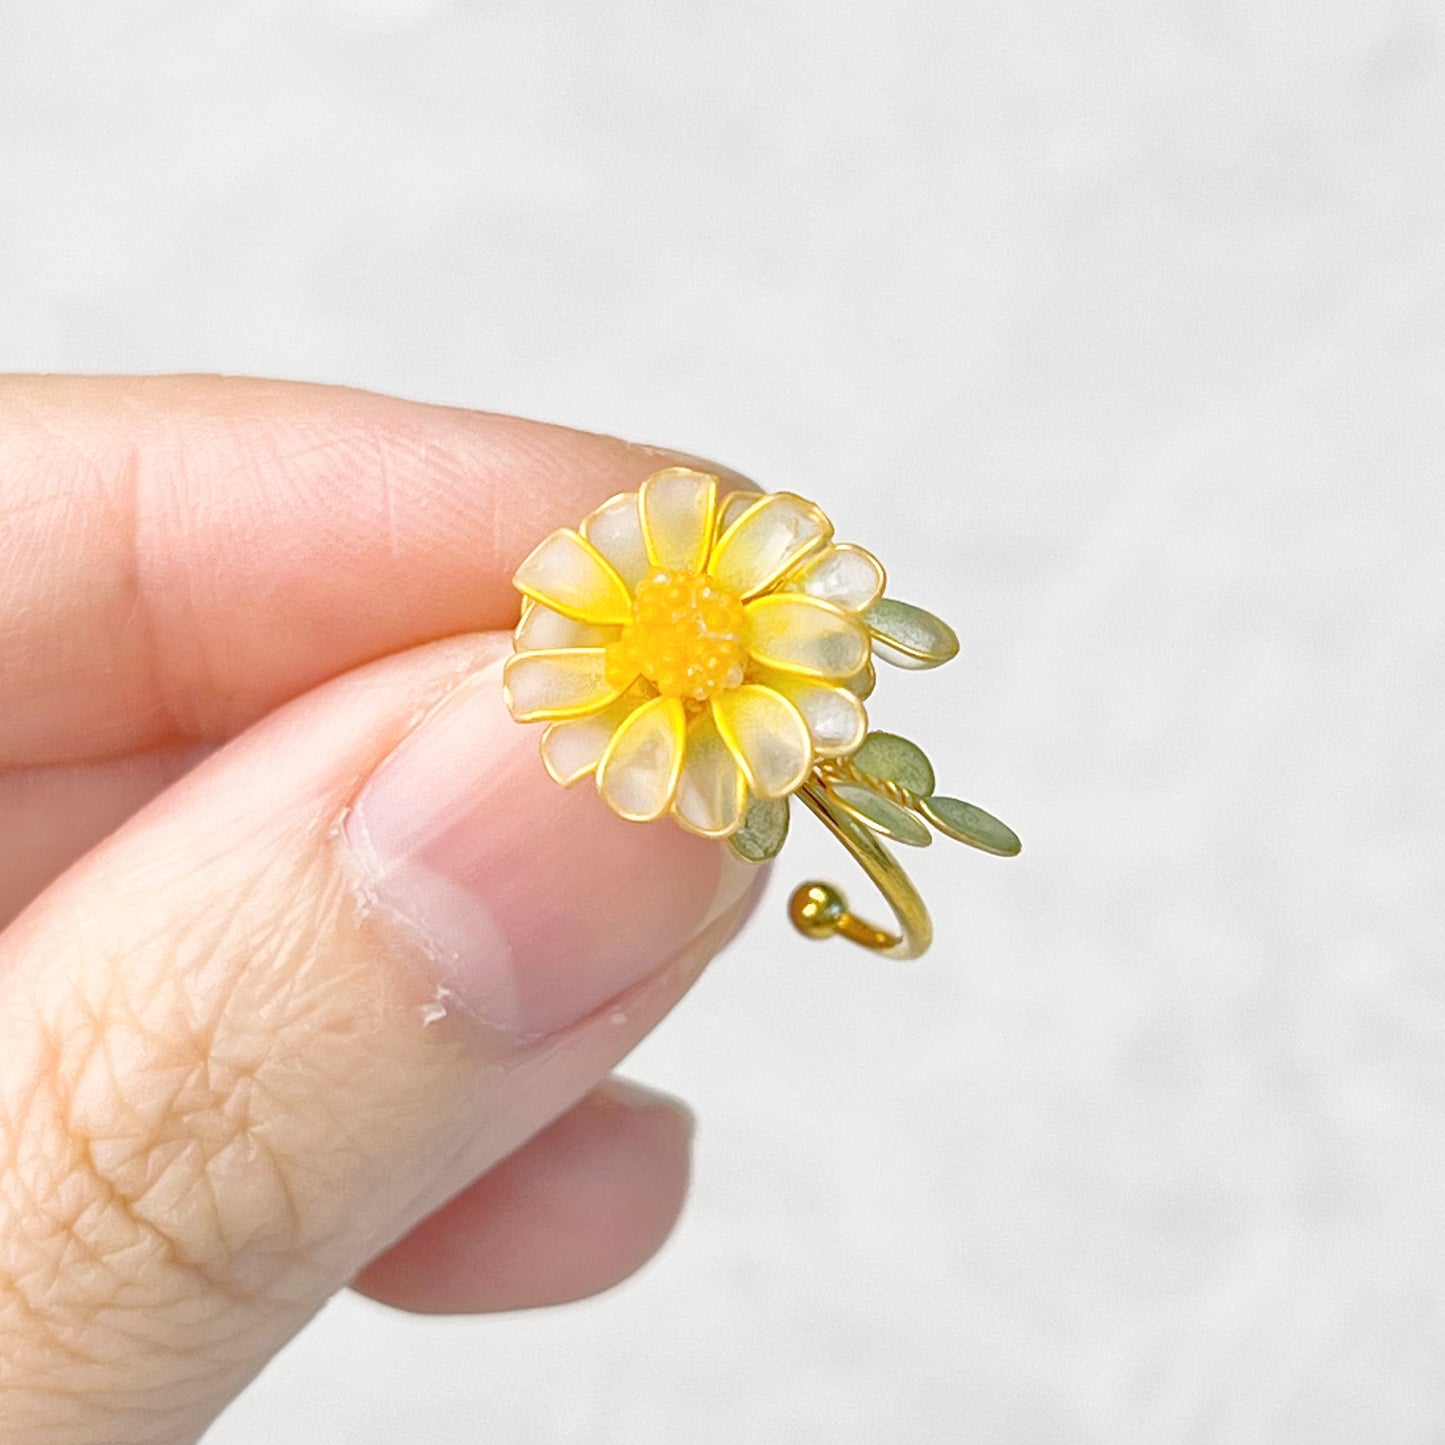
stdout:
<svg viewBox="0 0 1445 1445">
<path fill-rule="evenodd" d="M 760 880 L 556 788 L 488 629 L 533 542 L 668 461 L 0 380 L 9 1445 L 192 1441 L 347 1282 L 510 1309 L 659 1246 L 686 1116 L 608 1071 Z"/>
</svg>

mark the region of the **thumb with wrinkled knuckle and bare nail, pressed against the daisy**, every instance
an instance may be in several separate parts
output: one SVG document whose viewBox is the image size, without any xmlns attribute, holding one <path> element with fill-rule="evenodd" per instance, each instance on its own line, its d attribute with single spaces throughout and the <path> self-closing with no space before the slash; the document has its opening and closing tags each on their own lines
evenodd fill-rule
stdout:
<svg viewBox="0 0 1445 1445">
<path fill-rule="evenodd" d="M 546 777 L 504 650 L 301 698 L 0 936 L 0 1438 L 195 1439 L 746 912 L 725 848 Z"/>
</svg>

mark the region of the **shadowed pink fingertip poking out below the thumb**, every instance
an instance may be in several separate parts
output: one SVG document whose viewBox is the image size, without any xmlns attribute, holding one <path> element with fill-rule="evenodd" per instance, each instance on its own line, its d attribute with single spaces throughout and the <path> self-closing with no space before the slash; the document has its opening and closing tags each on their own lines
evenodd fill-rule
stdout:
<svg viewBox="0 0 1445 1445">
<path fill-rule="evenodd" d="M 685 1110 L 613 1079 L 423 1220 L 353 1287 L 425 1314 L 561 1305 L 611 1289 L 672 1231 L 691 1143 Z"/>
</svg>

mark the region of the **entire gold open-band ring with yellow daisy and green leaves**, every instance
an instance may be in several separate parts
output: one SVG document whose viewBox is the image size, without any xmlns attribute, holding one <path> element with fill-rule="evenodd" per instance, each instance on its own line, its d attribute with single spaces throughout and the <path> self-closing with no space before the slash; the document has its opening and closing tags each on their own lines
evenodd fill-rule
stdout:
<svg viewBox="0 0 1445 1445">
<path fill-rule="evenodd" d="M 855 918 L 828 883 L 793 890 L 793 925 L 916 958 L 932 923 L 884 840 L 923 847 L 939 832 L 1000 857 L 1020 844 L 981 808 L 936 793 L 916 743 L 868 728 L 876 657 L 936 668 L 958 652 L 946 623 L 886 597 L 884 582 L 877 558 L 835 542 L 814 503 L 669 467 L 517 568 L 507 707 L 546 724 L 542 763 L 558 783 L 595 776 L 618 816 L 670 815 L 749 863 L 782 848 L 801 798 L 897 926 Z"/>
</svg>

